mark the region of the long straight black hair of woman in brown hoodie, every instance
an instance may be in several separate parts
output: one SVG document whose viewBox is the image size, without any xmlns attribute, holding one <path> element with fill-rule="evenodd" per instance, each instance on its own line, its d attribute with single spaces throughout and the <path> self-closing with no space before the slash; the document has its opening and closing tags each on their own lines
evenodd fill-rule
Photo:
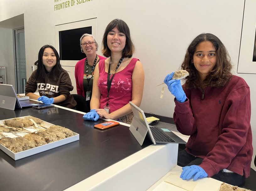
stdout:
<svg viewBox="0 0 256 191">
<path fill-rule="evenodd" d="M 61 71 L 65 71 L 65 70 L 61 67 L 60 57 L 59 57 L 57 50 L 51 45 L 44 45 L 39 50 L 38 60 L 35 62 L 35 65 L 37 66 L 36 78 L 38 80 L 44 79 L 46 69 L 45 69 L 45 66 L 43 65 L 43 54 L 44 54 L 44 50 L 46 48 L 52 48 L 52 50 L 56 56 L 56 65 L 52 68 L 50 75 L 53 80 L 57 80 L 58 77 L 60 76 Z"/>
</svg>

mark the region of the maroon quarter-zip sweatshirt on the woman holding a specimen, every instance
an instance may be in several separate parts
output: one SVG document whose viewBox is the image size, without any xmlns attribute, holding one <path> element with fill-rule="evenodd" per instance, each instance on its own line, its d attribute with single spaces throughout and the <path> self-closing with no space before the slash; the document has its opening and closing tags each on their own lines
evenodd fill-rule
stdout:
<svg viewBox="0 0 256 191">
<path fill-rule="evenodd" d="M 226 168 L 247 178 L 253 155 L 247 83 L 232 76 L 224 87 L 184 92 L 188 100 L 175 99 L 173 119 L 180 133 L 190 135 L 186 151 L 204 158 L 199 166 L 209 177 Z"/>
</svg>

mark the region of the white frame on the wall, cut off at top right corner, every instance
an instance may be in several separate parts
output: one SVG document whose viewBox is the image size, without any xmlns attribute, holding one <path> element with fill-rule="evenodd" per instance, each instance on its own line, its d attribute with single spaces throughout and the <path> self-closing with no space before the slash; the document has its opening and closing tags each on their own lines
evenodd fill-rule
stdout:
<svg viewBox="0 0 256 191">
<path fill-rule="evenodd" d="M 256 73 L 255 8 L 255 0 L 245 0 L 237 73 Z"/>
</svg>

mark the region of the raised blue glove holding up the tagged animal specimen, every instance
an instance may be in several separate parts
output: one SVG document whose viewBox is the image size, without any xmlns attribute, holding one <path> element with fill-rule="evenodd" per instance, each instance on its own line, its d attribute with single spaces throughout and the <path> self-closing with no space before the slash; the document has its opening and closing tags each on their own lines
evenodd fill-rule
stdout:
<svg viewBox="0 0 256 191">
<path fill-rule="evenodd" d="M 180 80 L 172 80 L 173 74 L 174 72 L 167 74 L 164 79 L 164 83 L 168 86 L 169 91 L 172 93 L 172 95 L 175 96 L 176 100 L 180 103 L 183 103 L 187 96 L 182 89 Z"/>
</svg>

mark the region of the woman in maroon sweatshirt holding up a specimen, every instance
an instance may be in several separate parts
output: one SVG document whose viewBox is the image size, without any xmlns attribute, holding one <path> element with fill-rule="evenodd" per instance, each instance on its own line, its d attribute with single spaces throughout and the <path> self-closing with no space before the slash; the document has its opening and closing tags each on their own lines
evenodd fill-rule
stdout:
<svg viewBox="0 0 256 191">
<path fill-rule="evenodd" d="M 250 88 L 231 74 L 225 46 L 210 33 L 190 43 L 181 68 L 189 72 L 183 85 L 172 80 L 173 73 L 164 80 L 175 96 L 177 130 L 190 136 L 178 153 L 181 178 L 211 177 L 242 185 L 253 154 Z"/>
</svg>

